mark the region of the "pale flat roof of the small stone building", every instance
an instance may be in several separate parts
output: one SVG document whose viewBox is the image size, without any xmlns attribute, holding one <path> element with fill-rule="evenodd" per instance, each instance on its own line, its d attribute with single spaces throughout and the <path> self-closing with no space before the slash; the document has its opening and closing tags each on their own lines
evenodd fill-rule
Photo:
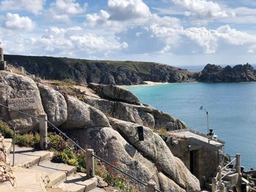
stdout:
<svg viewBox="0 0 256 192">
<path fill-rule="evenodd" d="M 221 147 L 225 144 L 224 141 L 219 140 L 219 139 L 211 139 L 210 143 L 208 142 L 208 135 L 202 134 L 200 132 L 197 132 L 195 130 L 192 130 L 190 128 L 183 128 L 183 129 L 178 129 L 174 131 L 169 131 L 173 135 L 177 135 L 179 137 L 186 137 L 186 138 L 193 138 L 200 140 L 201 142 L 206 142 L 207 144 L 214 145 L 216 147 Z"/>
</svg>

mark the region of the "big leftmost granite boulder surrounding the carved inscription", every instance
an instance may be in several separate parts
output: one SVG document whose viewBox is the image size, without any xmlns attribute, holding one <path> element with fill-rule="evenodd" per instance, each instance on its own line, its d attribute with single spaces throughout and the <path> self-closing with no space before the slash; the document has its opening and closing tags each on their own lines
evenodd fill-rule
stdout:
<svg viewBox="0 0 256 192">
<path fill-rule="evenodd" d="M 0 103 L 7 105 L 8 99 L 28 99 L 34 98 L 34 110 L 22 110 L 29 115 L 38 116 L 45 113 L 37 88 L 37 84 L 29 77 L 25 77 L 12 72 L 0 71 Z M 36 130 L 39 128 L 38 120 L 21 115 L 18 112 L 8 111 L 4 107 L 0 108 L 1 117 L 10 120 L 20 133 Z"/>
</svg>

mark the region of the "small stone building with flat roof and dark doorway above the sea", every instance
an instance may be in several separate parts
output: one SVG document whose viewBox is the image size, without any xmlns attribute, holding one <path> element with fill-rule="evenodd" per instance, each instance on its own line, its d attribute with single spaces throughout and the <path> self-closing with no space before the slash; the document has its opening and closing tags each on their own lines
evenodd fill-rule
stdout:
<svg viewBox="0 0 256 192">
<path fill-rule="evenodd" d="M 192 129 L 170 131 L 165 142 L 173 155 L 180 158 L 187 169 L 200 180 L 203 185 L 210 177 L 216 175 L 217 166 L 222 164 L 222 151 L 225 142 L 209 138 Z"/>
</svg>

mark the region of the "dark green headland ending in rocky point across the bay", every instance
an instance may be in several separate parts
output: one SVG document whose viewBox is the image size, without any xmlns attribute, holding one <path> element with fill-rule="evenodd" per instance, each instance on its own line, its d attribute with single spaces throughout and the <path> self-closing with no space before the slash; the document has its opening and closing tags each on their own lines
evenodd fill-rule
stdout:
<svg viewBox="0 0 256 192">
<path fill-rule="evenodd" d="M 249 82 L 256 71 L 249 65 L 207 64 L 201 72 L 189 72 L 166 64 L 142 61 L 95 61 L 46 56 L 4 55 L 13 66 L 45 79 L 72 79 L 112 85 L 140 85 L 151 82 Z"/>
</svg>

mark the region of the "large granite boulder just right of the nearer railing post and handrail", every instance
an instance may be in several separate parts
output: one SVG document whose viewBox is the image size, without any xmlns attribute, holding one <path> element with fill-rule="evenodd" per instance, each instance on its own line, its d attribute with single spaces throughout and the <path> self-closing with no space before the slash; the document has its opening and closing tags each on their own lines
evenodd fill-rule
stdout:
<svg viewBox="0 0 256 192">
<path fill-rule="evenodd" d="M 96 155 L 143 182 L 153 181 L 159 188 L 157 169 L 154 164 L 144 158 L 143 155 L 140 155 L 138 150 L 129 145 L 113 128 L 87 128 L 72 130 L 67 134 L 77 139 L 82 147 L 93 148 Z M 110 172 L 118 174 L 113 169 L 110 169 Z"/>
</svg>

